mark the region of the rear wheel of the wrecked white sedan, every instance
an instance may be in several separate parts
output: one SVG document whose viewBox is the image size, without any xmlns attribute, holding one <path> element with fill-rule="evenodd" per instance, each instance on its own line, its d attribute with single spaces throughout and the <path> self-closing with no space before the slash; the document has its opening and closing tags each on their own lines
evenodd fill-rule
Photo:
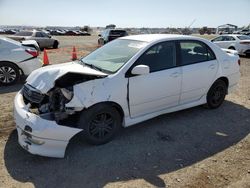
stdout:
<svg viewBox="0 0 250 188">
<path fill-rule="evenodd" d="M 223 80 L 217 80 L 207 93 L 207 107 L 210 109 L 218 108 L 224 102 L 227 94 L 227 85 Z"/>
</svg>

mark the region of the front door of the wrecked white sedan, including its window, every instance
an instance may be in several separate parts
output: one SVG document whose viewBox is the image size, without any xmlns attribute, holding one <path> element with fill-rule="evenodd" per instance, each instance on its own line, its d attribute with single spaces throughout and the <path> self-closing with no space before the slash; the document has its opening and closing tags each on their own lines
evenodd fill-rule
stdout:
<svg viewBox="0 0 250 188">
<path fill-rule="evenodd" d="M 129 71 L 136 65 L 150 68 L 147 75 L 129 76 L 132 118 L 178 105 L 182 74 L 176 62 L 175 42 L 162 42 L 149 48 L 130 68 Z"/>
</svg>

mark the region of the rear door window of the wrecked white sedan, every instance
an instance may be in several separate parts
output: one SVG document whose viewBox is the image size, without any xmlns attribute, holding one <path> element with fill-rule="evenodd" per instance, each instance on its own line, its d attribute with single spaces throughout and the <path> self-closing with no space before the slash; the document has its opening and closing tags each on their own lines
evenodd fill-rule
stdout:
<svg viewBox="0 0 250 188">
<path fill-rule="evenodd" d="M 180 50 L 182 65 L 189 65 L 215 59 L 215 55 L 212 50 L 199 41 L 181 41 Z"/>
</svg>

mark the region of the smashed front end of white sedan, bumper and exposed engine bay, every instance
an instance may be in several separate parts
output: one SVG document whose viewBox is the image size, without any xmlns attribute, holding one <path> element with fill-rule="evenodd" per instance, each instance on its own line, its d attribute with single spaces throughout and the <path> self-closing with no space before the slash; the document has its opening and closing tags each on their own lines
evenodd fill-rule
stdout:
<svg viewBox="0 0 250 188">
<path fill-rule="evenodd" d="M 81 132 L 77 128 L 79 107 L 67 107 L 76 84 L 101 77 L 66 73 L 46 93 L 27 82 L 15 97 L 14 118 L 19 144 L 28 152 L 63 158 L 69 140 Z"/>
</svg>

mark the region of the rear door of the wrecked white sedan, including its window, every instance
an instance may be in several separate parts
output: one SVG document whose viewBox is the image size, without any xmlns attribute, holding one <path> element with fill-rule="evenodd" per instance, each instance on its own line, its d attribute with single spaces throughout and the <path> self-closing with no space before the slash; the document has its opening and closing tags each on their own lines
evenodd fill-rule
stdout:
<svg viewBox="0 0 250 188">
<path fill-rule="evenodd" d="M 200 41 L 180 41 L 182 88 L 180 104 L 194 102 L 206 94 L 218 71 L 212 51 Z"/>
</svg>

